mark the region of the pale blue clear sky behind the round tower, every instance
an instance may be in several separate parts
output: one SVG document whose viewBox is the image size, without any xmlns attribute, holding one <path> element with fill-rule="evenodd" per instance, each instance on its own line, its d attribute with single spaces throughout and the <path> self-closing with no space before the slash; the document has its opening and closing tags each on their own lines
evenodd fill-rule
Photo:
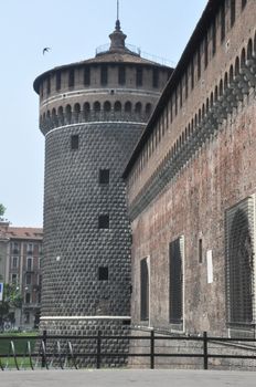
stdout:
<svg viewBox="0 0 256 387">
<path fill-rule="evenodd" d="M 120 0 L 127 43 L 175 64 L 206 0 Z M 43 224 L 44 137 L 33 81 L 108 43 L 116 0 L 8 0 L 1 3 L 0 202 L 13 226 Z M 50 46 L 45 55 L 42 50 Z"/>
</svg>

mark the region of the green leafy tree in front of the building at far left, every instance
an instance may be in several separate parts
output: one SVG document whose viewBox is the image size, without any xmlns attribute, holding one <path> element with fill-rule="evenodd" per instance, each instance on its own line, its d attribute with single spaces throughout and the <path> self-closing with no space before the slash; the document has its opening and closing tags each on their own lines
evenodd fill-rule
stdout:
<svg viewBox="0 0 256 387">
<path fill-rule="evenodd" d="M 21 307 L 22 296 L 14 284 L 4 283 L 3 297 L 0 302 L 0 327 L 3 326 L 4 321 L 9 320 L 11 307 Z"/>
</svg>

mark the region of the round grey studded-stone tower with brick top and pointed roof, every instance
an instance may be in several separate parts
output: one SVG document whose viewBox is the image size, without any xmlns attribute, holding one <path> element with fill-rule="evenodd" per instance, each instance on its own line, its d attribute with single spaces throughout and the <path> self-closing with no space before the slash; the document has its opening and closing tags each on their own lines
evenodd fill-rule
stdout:
<svg viewBox="0 0 256 387">
<path fill-rule="evenodd" d="M 108 333 L 129 323 L 130 228 L 121 178 L 171 74 L 125 44 L 34 81 L 45 136 L 41 328 Z"/>
</svg>

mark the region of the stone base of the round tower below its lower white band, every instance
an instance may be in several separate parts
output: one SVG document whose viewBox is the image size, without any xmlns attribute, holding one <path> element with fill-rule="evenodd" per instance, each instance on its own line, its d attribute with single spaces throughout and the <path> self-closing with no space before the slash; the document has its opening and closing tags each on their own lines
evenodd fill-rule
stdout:
<svg viewBox="0 0 256 387">
<path fill-rule="evenodd" d="M 128 364 L 128 356 L 117 355 L 129 353 L 129 339 L 126 338 L 130 334 L 129 325 L 129 316 L 41 317 L 40 331 L 41 333 L 46 331 L 47 336 L 60 336 L 46 339 L 47 352 L 55 353 L 55 362 L 57 362 L 56 342 L 60 342 L 62 354 L 67 353 L 67 343 L 71 342 L 77 366 L 94 368 L 99 360 L 96 354 L 100 332 L 100 367 L 124 367 Z M 104 336 L 115 337 L 104 338 Z"/>
</svg>

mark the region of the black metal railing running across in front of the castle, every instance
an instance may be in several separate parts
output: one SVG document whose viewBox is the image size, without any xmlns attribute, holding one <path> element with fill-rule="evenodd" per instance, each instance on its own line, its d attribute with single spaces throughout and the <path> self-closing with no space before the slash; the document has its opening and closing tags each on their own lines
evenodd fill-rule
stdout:
<svg viewBox="0 0 256 387">
<path fill-rule="evenodd" d="M 2 343 L 3 341 L 9 343 L 9 349 L 7 353 L 2 351 Z M 25 346 L 24 351 L 17 352 L 14 343 L 18 343 L 19 341 L 24 341 Z M 31 341 L 34 341 L 38 343 L 35 345 L 36 351 L 32 351 Z M 95 342 L 95 351 L 92 352 L 74 352 L 74 347 L 72 342 L 73 341 L 79 341 L 79 346 L 86 348 L 86 341 L 94 341 Z M 130 343 L 131 341 L 136 343 L 136 347 L 138 348 L 138 342 L 148 342 L 147 346 L 143 346 L 147 352 L 146 353 L 137 353 L 137 352 L 119 352 L 119 351 L 106 351 L 108 342 L 109 341 L 127 341 L 127 343 Z M 193 346 L 191 346 L 191 352 L 174 352 L 169 351 L 169 348 L 164 348 L 164 351 L 159 352 L 159 348 L 157 348 L 157 342 L 170 342 L 170 341 L 184 341 L 186 343 L 186 351 L 189 347 L 189 342 L 198 342 L 201 343 L 201 346 L 196 346 L 196 351 L 192 351 Z M 84 342 L 84 344 L 82 344 Z M 247 344 L 243 345 L 243 343 Z M 215 345 L 235 345 L 235 348 L 233 347 L 233 352 L 235 353 L 228 353 L 223 354 L 222 352 L 218 353 L 212 353 L 211 352 L 211 344 Z M 253 344 L 253 345 L 252 345 Z M 179 345 L 178 345 L 179 346 Z M 158 351 L 157 351 L 158 349 Z M 200 351 L 200 352 L 199 352 Z M 249 354 L 241 354 L 239 352 L 246 352 L 248 351 Z M 254 359 L 256 360 L 256 338 L 230 338 L 230 337 L 214 337 L 209 336 L 206 332 L 203 333 L 201 336 L 180 336 L 180 335 L 167 335 L 167 334 L 159 334 L 154 331 L 150 331 L 149 334 L 146 334 L 143 332 L 143 335 L 103 335 L 100 331 L 97 332 L 94 336 L 68 336 L 68 335 L 49 335 L 46 331 L 43 332 L 43 335 L 33 335 L 33 336 L 0 336 L 0 369 L 6 370 L 9 368 L 14 369 L 28 369 L 31 368 L 32 370 L 35 368 L 45 368 L 50 369 L 52 367 L 54 368 L 75 368 L 78 369 L 78 362 L 77 359 L 81 358 L 94 358 L 94 364 L 97 369 L 99 369 L 102 366 L 106 366 L 106 363 L 104 359 L 109 357 L 116 357 L 116 358 L 131 358 L 131 357 L 146 357 L 149 358 L 148 366 L 153 369 L 156 367 L 156 359 L 159 357 L 183 357 L 183 358 L 201 358 L 202 364 L 200 366 L 199 363 L 196 363 L 195 367 L 200 367 L 203 369 L 209 369 L 209 359 L 210 358 L 222 358 L 222 359 Z M 126 363 L 127 364 L 127 363 Z M 170 364 L 171 365 L 171 364 Z M 185 366 L 185 365 L 184 365 Z M 256 363 L 255 363 L 256 368 Z"/>
</svg>

